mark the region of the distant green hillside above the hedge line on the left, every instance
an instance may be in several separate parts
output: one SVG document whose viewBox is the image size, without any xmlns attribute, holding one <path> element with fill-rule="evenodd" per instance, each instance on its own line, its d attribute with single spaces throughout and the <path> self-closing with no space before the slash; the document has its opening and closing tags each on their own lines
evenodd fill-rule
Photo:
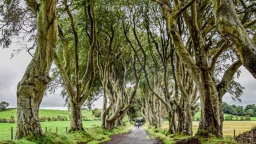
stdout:
<svg viewBox="0 0 256 144">
<path fill-rule="evenodd" d="M 5 109 L 3 111 L 0 111 L 0 118 L 10 119 L 11 115 L 13 117 L 17 117 L 17 109 L 16 108 L 10 108 Z M 56 110 L 56 109 L 40 109 L 39 110 L 39 117 L 57 117 L 57 116 L 66 116 L 69 117 L 71 115 L 71 111 L 65 111 L 65 110 Z M 82 110 L 82 115 L 85 117 L 85 119 L 93 120 L 97 119 L 93 116 L 93 113 L 88 110 Z"/>
</svg>

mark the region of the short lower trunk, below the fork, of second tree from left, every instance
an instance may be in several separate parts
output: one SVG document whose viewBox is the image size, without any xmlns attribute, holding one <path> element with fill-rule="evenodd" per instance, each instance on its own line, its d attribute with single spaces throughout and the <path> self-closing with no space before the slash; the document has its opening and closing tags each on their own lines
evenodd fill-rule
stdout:
<svg viewBox="0 0 256 144">
<path fill-rule="evenodd" d="M 79 103 L 71 103 L 71 121 L 70 121 L 70 129 L 69 131 L 82 131 L 83 123 L 82 123 L 82 111 Z"/>
</svg>

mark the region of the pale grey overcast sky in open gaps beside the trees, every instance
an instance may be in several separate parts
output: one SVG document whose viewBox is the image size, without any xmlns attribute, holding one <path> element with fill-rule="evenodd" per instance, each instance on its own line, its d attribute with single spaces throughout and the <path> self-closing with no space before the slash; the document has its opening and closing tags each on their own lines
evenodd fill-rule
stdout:
<svg viewBox="0 0 256 144">
<path fill-rule="evenodd" d="M 23 73 L 29 62 L 31 56 L 26 51 L 15 55 L 11 59 L 11 53 L 19 45 L 12 44 L 9 49 L 0 48 L 0 101 L 7 101 L 10 107 L 16 107 L 16 91 L 17 83 L 21 81 Z M 242 66 L 241 77 L 237 81 L 245 87 L 243 92 L 242 102 L 235 102 L 231 99 L 229 94 L 224 95 L 223 101 L 229 104 L 235 105 L 248 105 L 251 103 L 256 104 L 256 79 Z M 99 99 L 94 103 L 94 107 L 101 108 L 102 99 Z M 57 91 L 55 95 L 49 95 L 44 97 L 41 103 L 42 109 L 67 109 L 64 107 L 64 100 L 60 96 L 60 92 Z"/>
</svg>

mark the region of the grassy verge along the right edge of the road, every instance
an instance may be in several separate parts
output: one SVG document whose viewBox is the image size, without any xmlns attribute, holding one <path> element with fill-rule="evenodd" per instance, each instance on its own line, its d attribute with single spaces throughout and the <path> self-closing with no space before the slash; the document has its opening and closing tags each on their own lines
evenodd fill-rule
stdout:
<svg viewBox="0 0 256 144">
<path fill-rule="evenodd" d="M 207 139 L 190 137 L 183 135 L 183 133 L 169 134 L 168 129 L 158 128 L 154 129 L 150 125 L 146 124 L 144 129 L 147 133 L 151 134 L 154 137 L 158 137 L 165 144 L 175 144 L 175 143 L 195 143 L 199 142 L 201 144 L 235 144 L 235 141 L 231 137 L 225 137 L 225 139 L 217 139 L 215 137 L 210 137 Z"/>
</svg>

